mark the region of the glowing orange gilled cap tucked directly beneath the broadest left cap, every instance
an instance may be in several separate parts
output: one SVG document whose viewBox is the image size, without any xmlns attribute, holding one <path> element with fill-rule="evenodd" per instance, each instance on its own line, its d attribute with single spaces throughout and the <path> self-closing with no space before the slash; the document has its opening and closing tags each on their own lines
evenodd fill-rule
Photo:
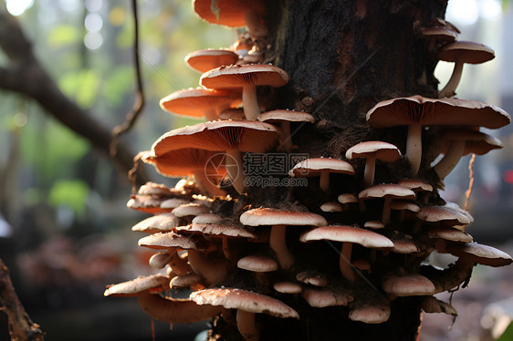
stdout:
<svg viewBox="0 0 513 341">
<path fill-rule="evenodd" d="M 157 172 L 167 177 L 181 177 L 204 171 L 209 176 L 226 174 L 225 154 L 215 150 L 183 148 L 170 150 L 161 155 L 149 154 L 142 159 L 152 164 Z"/>
</svg>

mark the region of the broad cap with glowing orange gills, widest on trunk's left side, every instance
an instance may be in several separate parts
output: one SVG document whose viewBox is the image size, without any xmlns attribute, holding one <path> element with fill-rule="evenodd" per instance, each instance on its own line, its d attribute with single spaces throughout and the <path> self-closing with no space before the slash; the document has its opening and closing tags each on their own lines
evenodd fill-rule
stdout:
<svg viewBox="0 0 513 341">
<path fill-rule="evenodd" d="M 277 144 L 279 131 L 271 124 L 258 121 L 221 120 L 173 129 L 152 146 L 152 156 L 170 150 L 240 150 L 261 153 Z"/>
</svg>

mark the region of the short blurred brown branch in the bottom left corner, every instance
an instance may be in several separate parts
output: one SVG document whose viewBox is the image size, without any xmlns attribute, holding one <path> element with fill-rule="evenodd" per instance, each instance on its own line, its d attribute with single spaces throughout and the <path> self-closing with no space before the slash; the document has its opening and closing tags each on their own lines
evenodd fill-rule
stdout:
<svg viewBox="0 0 513 341">
<path fill-rule="evenodd" d="M 43 341 L 43 332 L 39 325 L 32 322 L 26 315 L 25 308 L 19 302 L 15 288 L 9 276 L 9 269 L 0 259 L 0 304 L 4 306 L 5 314 L 9 318 L 9 334 L 11 340 L 16 341 Z"/>
</svg>

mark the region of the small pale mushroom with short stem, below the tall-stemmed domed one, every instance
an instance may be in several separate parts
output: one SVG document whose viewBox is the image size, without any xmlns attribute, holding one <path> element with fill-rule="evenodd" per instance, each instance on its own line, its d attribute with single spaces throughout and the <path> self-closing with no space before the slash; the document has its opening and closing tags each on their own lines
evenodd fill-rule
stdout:
<svg viewBox="0 0 513 341">
<path fill-rule="evenodd" d="M 415 192 L 396 183 L 382 183 L 368 187 L 358 193 L 361 202 L 369 199 L 383 198 L 382 223 L 387 224 L 390 220 L 390 204 L 394 199 L 413 201 Z"/>
</svg>

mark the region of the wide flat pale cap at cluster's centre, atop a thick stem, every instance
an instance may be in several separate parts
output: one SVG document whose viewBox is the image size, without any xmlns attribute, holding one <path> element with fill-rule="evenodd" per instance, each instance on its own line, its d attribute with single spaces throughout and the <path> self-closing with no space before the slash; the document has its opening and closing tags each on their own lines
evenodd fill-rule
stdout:
<svg viewBox="0 0 513 341">
<path fill-rule="evenodd" d="M 327 225 L 324 217 L 312 212 L 279 211 L 270 208 L 257 208 L 241 214 L 240 222 L 248 226 L 260 225 Z"/>
</svg>

